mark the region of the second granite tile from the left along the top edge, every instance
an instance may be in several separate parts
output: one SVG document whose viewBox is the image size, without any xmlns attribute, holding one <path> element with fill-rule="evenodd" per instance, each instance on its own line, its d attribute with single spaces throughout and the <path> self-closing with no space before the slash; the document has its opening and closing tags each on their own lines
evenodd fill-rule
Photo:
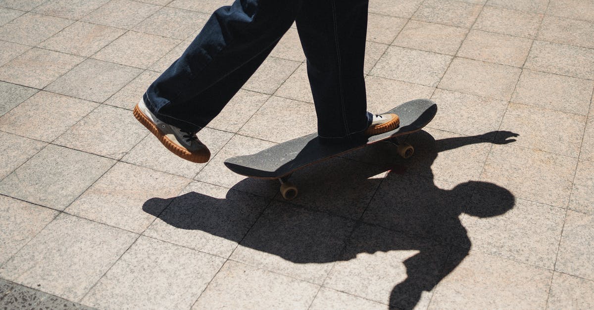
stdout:
<svg viewBox="0 0 594 310">
<path fill-rule="evenodd" d="M 31 11 L 69 20 L 79 20 L 107 2 L 109 0 L 49 0 Z"/>
</svg>

